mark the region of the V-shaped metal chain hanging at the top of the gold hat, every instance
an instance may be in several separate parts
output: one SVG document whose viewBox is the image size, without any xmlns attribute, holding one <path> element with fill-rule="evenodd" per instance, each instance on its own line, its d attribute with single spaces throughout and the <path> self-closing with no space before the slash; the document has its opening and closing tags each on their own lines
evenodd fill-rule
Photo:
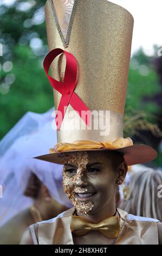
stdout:
<svg viewBox="0 0 162 256">
<path fill-rule="evenodd" d="M 53 0 L 49 0 L 49 2 L 50 2 L 50 5 L 51 5 L 53 15 L 54 15 L 57 30 L 58 30 L 60 38 L 63 42 L 63 46 L 64 46 L 64 48 L 67 48 L 68 44 L 69 44 L 69 40 L 70 40 L 70 34 L 72 32 L 72 26 L 73 26 L 73 21 L 74 21 L 74 16 L 75 16 L 78 0 L 74 0 L 74 5 L 73 5 L 73 9 L 72 9 L 72 14 L 70 16 L 70 21 L 69 21 L 69 26 L 68 26 L 68 32 L 67 32 L 67 35 L 66 35 L 66 39 L 64 39 L 64 36 L 62 34 L 62 31 L 61 31 L 61 28 L 60 28 L 60 25 L 59 25 L 59 20 L 57 19 L 56 11 L 55 11 L 55 8 L 54 8 Z"/>
</svg>

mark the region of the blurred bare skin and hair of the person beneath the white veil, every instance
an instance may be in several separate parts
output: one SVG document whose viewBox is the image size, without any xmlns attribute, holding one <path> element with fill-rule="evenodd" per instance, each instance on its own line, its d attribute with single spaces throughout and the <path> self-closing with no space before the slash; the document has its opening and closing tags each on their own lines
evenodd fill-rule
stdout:
<svg viewBox="0 0 162 256">
<path fill-rule="evenodd" d="M 18 245 L 24 230 L 33 223 L 49 220 L 68 210 L 51 197 L 48 189 L 31 173 L 24 196 L 33 200 L 33 204 L 13 216 L 0 228 L 0 245 Z M 16 230 L 16 232 L 15 232 Z"/>
</svg>

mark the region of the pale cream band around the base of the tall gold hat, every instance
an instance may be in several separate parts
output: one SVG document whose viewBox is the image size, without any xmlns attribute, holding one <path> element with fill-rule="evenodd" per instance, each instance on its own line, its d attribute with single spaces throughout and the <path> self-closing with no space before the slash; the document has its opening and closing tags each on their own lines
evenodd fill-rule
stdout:
<svg viewBox="0 0 162 256">
<path fill-rule="evenodd" d="M 123 115 L 114 111 L 90 110 L 90 125 L 86 126 L 76 111 L 67 111 L 57 141 L 73 143 L 79 140 L 115 141 L 123 137 Z"/>
</svg>

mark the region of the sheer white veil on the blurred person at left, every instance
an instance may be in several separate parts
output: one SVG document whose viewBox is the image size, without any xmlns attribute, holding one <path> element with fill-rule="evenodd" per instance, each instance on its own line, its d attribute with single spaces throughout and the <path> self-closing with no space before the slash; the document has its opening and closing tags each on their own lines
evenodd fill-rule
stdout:
<svg viewBox="0 0 162 256">
<path fill-rule="evenodd" d="M 28 112 L 0 142 L 0 185 L 3 190 L 0 226 L 33 204 L 33 199 L 23 195 L 31 172 L 46 185 L 57 202 L 69 208 L 72 206 L 63 191 L 62 166 L 32 159 L 48 154 L 49 148 L 57 143 L 56 130 L 51 128 L 52 112 L 53 109 L 44 114 Z"/>
</svg>

